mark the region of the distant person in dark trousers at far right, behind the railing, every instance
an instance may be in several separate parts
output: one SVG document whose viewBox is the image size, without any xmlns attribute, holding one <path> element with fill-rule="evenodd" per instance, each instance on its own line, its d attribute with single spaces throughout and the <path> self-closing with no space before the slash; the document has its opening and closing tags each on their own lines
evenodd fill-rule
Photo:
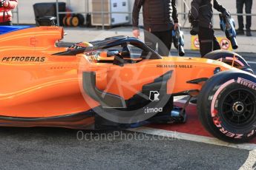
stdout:
<svg viewBox="0 0 256 170">
<path fill-rule="evenodd" d="M 237 0 L 237 14 L 243 13 L 243 4 L 246 6 L 246 14 L 252 13 L 252 0 Z M 237 35 L 244 35 L 243 16 L 237 16 L 238 30 Z M 251 33 L 252 16 L 246 16 L 246 36 L 252 36 Z"/>
</svg>

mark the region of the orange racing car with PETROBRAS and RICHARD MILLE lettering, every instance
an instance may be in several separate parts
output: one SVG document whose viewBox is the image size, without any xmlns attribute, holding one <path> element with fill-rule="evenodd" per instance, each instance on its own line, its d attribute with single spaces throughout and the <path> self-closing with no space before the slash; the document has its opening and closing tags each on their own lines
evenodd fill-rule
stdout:
<svg viewBox="0 0 256 170">
<path fill-rule="evenodd" d="M 126 129 L 184 122 L 191 97 L 215 137 L 256 135 L 256 77 L 234 52 L 163 57 L 117 36 L 59 47 L 62 27 L 0 27 L 0 126 Z M 188 95 L 183 108 L 173 96 Z"/>
</svg>

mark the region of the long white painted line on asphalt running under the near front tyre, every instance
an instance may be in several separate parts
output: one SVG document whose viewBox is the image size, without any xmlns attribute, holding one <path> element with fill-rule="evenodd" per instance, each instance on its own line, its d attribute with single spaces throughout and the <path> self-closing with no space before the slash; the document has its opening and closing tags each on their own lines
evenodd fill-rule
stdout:
<svg viewBox="0 0 256 170">
<path fill-rule="evenodd" d="M 207 143 L 211 145 L 217 145 L 217 146 L 227 146 L 235 149 L 244 149 L 253 151 L 256 150 L 256 144 L 253 143 L 243 143 L 243 144 L 233 144 L 233 143 L 226 143 L 222 140 L 218 140 L 215 137 L 205 137 L 200 135 L 191 135 L 181 132 L 173 132 L 173 131 L 167 131 L 162 129 L 154 129 L 150 127 L 140 127 L 136 129 L 129 129 L 132 132 L 140 132 L 145 133 L 149 135 L 158 135 L 158 136 L 164 136 L 164 137 L 173 137 L 180 140 L 190 140 L 194 142 L 200 142 L 200 143 Z"/>
</svg>

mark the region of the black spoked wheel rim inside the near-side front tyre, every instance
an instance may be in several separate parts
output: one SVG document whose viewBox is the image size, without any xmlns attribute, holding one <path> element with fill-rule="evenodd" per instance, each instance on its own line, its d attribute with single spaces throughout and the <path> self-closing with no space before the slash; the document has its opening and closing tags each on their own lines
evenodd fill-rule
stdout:
<svg viewBox="0 0 256 170">
<path fill-rule="evenodd" d="M 234 89 L 228 92 L 221 106 L 223 118 L 235 127 L 244 128 L 255 123 L 255 95 L 248 89 Z"/>
</svg>

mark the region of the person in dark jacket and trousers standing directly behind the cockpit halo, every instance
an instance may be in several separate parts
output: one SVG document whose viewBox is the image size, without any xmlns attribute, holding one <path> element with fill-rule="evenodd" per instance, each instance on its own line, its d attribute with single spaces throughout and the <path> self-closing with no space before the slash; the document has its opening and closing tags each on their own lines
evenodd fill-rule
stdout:
<svg viewBox="0 0 256 170">
<path fill-rule="evenodd" d="M 135 0 L 132 13 L 134 37 L 140 36 L 139 15 L 143 10 L 145 44 L 160 55 L 168 56 L 171 50 L 172 29 L 179 27 L 176 0 Z M 152 38 L 156 36 L 159 40 Z M 165 47 L 161 47 L 164 44 Z"/>
</svg>

